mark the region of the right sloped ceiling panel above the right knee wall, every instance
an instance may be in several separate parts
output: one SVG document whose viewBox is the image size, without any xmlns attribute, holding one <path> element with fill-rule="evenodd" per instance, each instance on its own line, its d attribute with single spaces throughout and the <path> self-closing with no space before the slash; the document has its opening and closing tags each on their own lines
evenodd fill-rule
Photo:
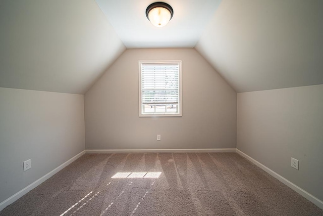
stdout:
<svg viewBox="0 0 323 216">
<path fill-rule="evenodd" d="M 237 92 L 323 84 L 323 1 L 223 0 L 196 50 Z"/>
</svg>

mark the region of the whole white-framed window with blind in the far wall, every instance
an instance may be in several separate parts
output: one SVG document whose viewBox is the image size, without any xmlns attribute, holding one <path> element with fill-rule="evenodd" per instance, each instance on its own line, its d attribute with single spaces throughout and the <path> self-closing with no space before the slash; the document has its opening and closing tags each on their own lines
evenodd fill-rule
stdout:
<svg viewBox="0 0 323 216">
<path fill-rule="evenodd" d="M 182 61 L 139 61 L 139 116 L 182 116 Z"/>
</svg>

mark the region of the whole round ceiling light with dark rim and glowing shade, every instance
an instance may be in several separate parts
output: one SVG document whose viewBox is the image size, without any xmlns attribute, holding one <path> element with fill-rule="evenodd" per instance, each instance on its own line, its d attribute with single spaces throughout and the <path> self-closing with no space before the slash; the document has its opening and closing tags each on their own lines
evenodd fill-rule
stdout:
<svg viewBox="0 0 323 216">
<path fill-rule="evenodd" d="M 164 2 L 155 2 L 147 7 L 146 16 L 148 20 L 157 27 L 163 27 L 172 19 L 173 8 Z"/>
</svg>

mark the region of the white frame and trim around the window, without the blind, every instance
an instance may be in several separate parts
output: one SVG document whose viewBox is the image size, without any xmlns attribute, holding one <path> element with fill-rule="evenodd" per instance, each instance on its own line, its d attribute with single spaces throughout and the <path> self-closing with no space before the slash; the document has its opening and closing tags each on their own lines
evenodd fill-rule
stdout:
<svg viewBox="0 0 323 216">
<path fill-rule="evenodd" d="M 142 64 L 174 64 L 179 65 L 179 104 L 178 112 L 149 112 L 143 113 L 142 110 L 142 85 L 141 85 L 141 65 Z M 181 117 L 182 116 L 182 61 L 181 60 L 169 60 L 169 61 L 138 61 L 138 75 L 139 75 L 139 117 Z"/>
</svg>

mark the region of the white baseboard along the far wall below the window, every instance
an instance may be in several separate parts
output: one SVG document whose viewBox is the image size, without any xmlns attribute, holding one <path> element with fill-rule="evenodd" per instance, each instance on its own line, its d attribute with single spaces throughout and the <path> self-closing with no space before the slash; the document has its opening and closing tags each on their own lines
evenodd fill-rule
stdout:
<svg viewBox="0 0 323 216">
<path fill-rule="evenodd" d="M 236 152 L 232 149 L 87 149 L 86 153 L 189 153 L 189 152 Z"/>
</svg>

